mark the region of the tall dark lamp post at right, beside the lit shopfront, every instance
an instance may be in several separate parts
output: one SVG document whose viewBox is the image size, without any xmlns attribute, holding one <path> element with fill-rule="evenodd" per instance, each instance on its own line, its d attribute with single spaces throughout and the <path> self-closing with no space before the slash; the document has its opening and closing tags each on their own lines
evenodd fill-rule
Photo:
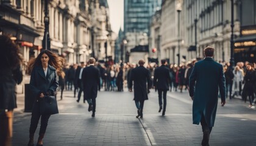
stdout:
<svg viewBox="0 0 256 146">
<path fill-rule="evenodd" d="M 233 28 L 234 28 L 234 1 L 231 0 L 231 37 L 230 37 L 230 66 L 233 69 L 235 66 L 234 60 L 234 35 L 233 35 Z"/>
</svg>

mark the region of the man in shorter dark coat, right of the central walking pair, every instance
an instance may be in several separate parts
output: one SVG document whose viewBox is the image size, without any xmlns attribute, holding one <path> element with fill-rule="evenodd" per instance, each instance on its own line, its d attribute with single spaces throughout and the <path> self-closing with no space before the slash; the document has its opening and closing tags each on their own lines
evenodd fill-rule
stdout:
<svg viewBox="0 0 256 146">
<path fill-rule="evenodd" d="M 162 116 L 165 116 L 166 109 L 166 92 L 169 89 L 169 83 L 171 83 L 171 77 L 169 75 L 169 69 L 166 67 L 166 60 L 161 60 L 162 66 L 155 69 L 154 72 L 154 88 L 158 91 L 159 113 L 163 109 Z M 163 102 L 162 102 L 163 97 Z"/>
</svg>

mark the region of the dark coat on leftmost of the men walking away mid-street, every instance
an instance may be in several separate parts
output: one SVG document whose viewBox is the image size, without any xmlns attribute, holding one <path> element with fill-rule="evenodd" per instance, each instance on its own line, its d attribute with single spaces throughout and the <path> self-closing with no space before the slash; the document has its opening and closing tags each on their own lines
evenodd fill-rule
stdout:
<svg viewBox="0 0 256 146">
<path fill-rule="evenodd" d="M 82 72 L 84 99 L 96 99 L 98 89 L 101 89 L 99 69 L 93 65 L 87 66 Z"/>
</svg>

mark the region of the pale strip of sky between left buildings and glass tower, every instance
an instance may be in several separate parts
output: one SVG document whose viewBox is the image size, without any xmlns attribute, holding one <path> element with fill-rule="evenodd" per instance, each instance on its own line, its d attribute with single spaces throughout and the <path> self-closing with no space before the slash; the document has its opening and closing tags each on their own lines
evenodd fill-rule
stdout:
<svg viewBox="0 0 256 146">
<path fill-rule="evenodd" d="M 124 0 L 107 0 L 107 2 L 112 30 L 118 34 L 120 27 L 124 30 Z"/>
</svg>

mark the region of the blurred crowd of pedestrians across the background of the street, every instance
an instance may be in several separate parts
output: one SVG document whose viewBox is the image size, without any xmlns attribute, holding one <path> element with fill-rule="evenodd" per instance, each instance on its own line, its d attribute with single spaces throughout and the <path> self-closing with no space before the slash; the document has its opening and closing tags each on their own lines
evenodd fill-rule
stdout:
<svg viewBox="0 0 256 146">
<path fill-rule="evenodd" d="M 188 89 L 189 77 L 193 71 L 194 64 L 199 60 L 191 60 L 188 62 L 177 64 L 165 64 L 166 68 L 169 69 L 170 81 L 168 83 L 168 91 L 183 92 Z M 226 98 L 233 99 L 238 97 L 249 101 L 249 107 L 255 108 L 256 103 L 256 64 L 246 62 L 238 62 L 232 68 L 229 62 L 219 61 L 223 66 L 224 75 L 226 78 Z M 65 72 L 65 89 L 73 90 L 74 97 L 76 92 L 79 92 L 77 102 L 80 100 L 82 86 L 80 84 L 81 78 L 79 75 L 82 74 L 80 68 L 85 68 L 88 63 L 80 63 L 73 65 L 66 65 L 63 69 Z M 104 91 L 124 91 L 124 88 L 129 87 L 130 71 L 136 68 L 138 64 L 135 63 L 124 63 L 124 64 L 105 64 L 95 63 L 96 68 L 100 72 L 100 85 Z M 160 65 L 161 66 L 161 65 Z M 154 86 L 154 71 L 158 67 L 156 63 L 150 63 L 146 68 L 149 70 L 151 77 L 150 85 L 151 88 Z M 61 82 L 62 83 L 62 82 Z M 155 89 L 157 91 L 157 89 Z M 62 97 L 62 96 L 61 96 Z M 85 100 L 84 100 L 85 102 Z"/>
</svg>

